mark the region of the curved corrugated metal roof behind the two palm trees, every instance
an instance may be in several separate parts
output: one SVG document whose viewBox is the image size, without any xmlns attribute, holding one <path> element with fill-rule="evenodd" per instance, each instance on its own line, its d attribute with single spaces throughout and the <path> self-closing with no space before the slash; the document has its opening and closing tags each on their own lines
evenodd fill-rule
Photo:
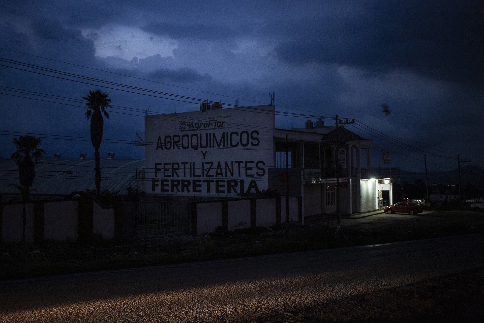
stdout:
<svg viewBox="0 0 484 323">
<path fill-rule="evenodd" d="M 135 185 L 136 169 L 143 167 L 144 159 L 101 159 L 101 189 L 124 193 L 126 187 Z M 95 189 L 94 181 L 94 159 L 39 160 L 32 188 L 38 194 L 69 194 Z M 9 186 L 12 183 L 19 183 L 15 161 L 1 160 L 0 193 L 18 193 Z"/>
</svg>

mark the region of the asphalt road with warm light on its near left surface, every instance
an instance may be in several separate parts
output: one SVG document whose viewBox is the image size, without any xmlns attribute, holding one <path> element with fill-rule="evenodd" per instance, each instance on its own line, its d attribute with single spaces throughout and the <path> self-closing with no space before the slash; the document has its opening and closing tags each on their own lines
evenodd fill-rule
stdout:
<svg viewBox="0 0 484 323">
<path fill-rule="evenodd" d="M 0 322 L 227 322 L 484 266 L 484 234 L 0 282 Z"/>
</svg>

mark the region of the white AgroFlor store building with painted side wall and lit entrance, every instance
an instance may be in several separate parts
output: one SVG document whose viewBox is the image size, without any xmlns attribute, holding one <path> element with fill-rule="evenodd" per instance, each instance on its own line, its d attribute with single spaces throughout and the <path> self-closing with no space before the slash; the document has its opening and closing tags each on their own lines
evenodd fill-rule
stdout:
<svg viewBox="0 0 484 323">
<path fill-rule="evenodd" d="M 333 213 L 336 140 L 341 213 L 377 210 L 381 200 L 392 204 L 399 169 L 370 168 L 371 140 L 322 120 L 277 129 L 269 105 L 222 109 L 204 103 L 200 111 L 145 117 L 144 142 L 138 143 L 145 146 L 145 173 L 138 185 L 152 194 L 220 198 L 268 189 L 286 195 L 288 189 L 302 196 L 304 216 Z"/>
</svg>

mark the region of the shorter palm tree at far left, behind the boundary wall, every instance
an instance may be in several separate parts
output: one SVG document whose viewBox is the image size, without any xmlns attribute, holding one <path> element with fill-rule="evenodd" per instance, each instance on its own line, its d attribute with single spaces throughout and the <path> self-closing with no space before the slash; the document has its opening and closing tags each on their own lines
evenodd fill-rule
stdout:
<svg viewBox="0 0 484 323">
<path fill-rule="evenodd" d="M 18 189 L 24 203 L 22 211 L 22 241 L 25 243 L 25 207 L 26 203 L 30 200 L 30 187 L 35 178 L 35 165 L 38 164 L 38 159 L 42 158 L 42 154 L 45 154 L 45 151 L 38 148 L 41 144 L 40 138 L 29 135 L 18 136 L 18 139 L 14 138 L 12 143 L 16 149 L 10 158 L 16 160 L 20 185 L 11 184 L 11 186 L 15 186 Z"/>
</svg>

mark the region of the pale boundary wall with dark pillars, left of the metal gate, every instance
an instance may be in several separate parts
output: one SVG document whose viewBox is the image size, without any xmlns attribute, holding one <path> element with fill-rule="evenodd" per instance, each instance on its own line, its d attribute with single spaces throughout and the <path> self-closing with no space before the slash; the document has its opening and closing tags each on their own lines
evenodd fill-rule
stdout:
<svg viewBox="0 0 484 323">
<path fill-rule="evenodd" d="M 22 202 L 7 202 L 1 206 L 0 241 L 15 243 L 22 241 Z M 123 218 L 122 201 L 114 206 L 103 206 L 93 198 L 76 200 L 45 200 L 26 203 L 27 243 L 42 244 L 44 240 L 78 240 L 91 243 L 94 234 L 104 239 L 127 231 L 129 225 Z"/>
</svg>

